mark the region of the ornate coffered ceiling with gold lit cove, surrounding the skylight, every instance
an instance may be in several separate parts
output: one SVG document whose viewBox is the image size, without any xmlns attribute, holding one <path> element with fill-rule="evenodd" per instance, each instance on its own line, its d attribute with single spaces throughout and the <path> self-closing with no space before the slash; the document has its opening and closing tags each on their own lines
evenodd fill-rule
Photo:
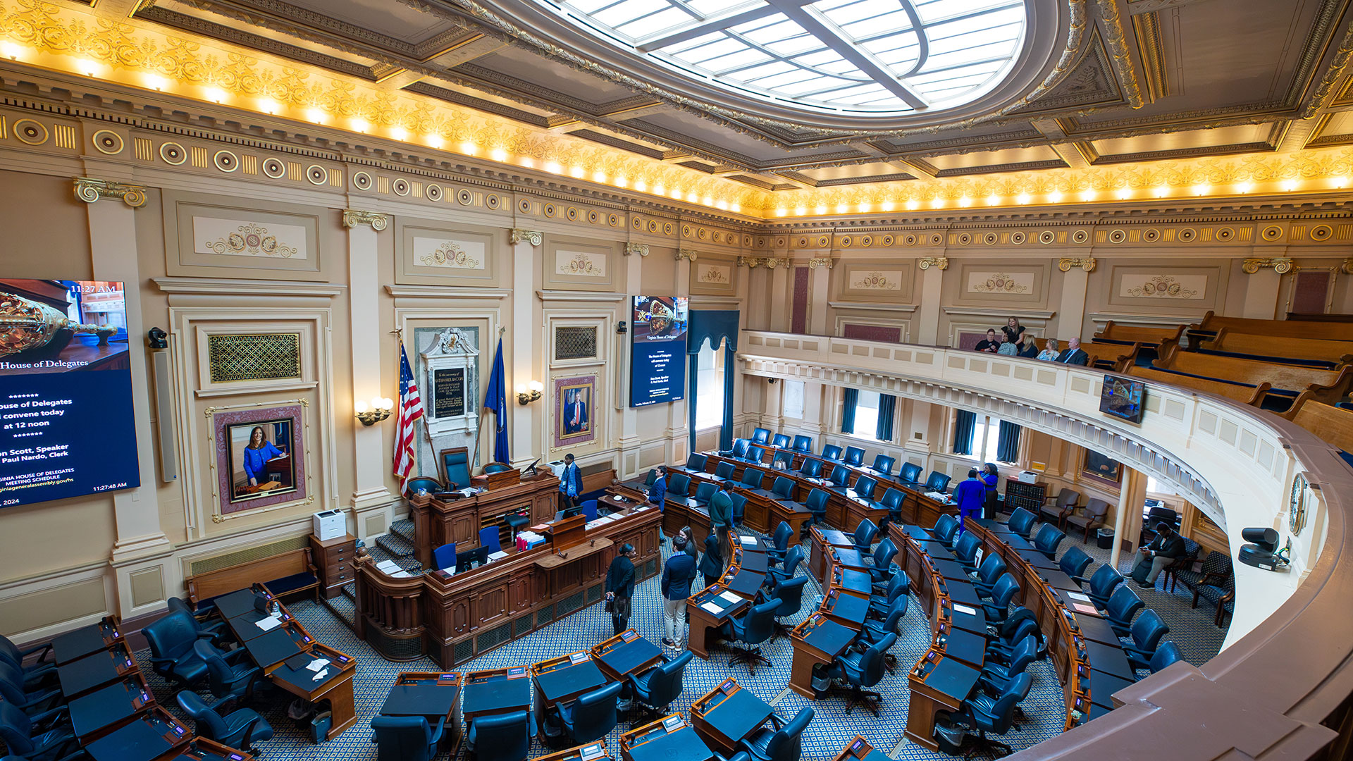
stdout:
<svg viewBox="0 0 1353 761">
<path fill-rule="evenodd" d="M 693 97 L 514 26 L 534 0 L 0 0 L 0 57 L 413 153 L 812 217 L 1342 187 L 1349 3 L 1053 3 L 1057 45 L 1023 92 L 886 125 Z"/>
</svg>

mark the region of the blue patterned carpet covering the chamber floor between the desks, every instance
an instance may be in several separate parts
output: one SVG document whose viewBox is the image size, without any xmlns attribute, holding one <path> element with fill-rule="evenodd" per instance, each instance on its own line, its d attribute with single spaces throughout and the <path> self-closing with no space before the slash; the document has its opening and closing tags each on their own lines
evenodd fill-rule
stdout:
<svg viewBox="0 0 1353 761">
<path fill-rule="evenodd" d="M 1068 539 L 1068 542 L 1072 540 Z M 1084 544 L 1081 547 L 1097 561 L 1107 559 L 1108 552 L 1097 550 L 1093 544 Z M 1126 558 L 1126 561 L 1130 562 L 1131 558 Z M 801 566 L 800 573 L 806 573 L 806 563 Z M 1142 590 L 1141 593 L 1143 600 L 1155 608 L 1170 626 L 1172 631 L 1168 639 L 1173 639 L 1180 646 L 1188 661 L 1201 664 L 1216 654 L 1224 631 L 1212 626 L 1212 608 L 1210 605 L 1200 604 L 1197 611 L 1191 611 L 1189 600 L 1192 594 L 1183 594 L 1183 586 L 1180 586 L 1180 590 L 1176 594 L 1166 594 L 1160 590 Z M 820 589 L 810 580 L 805 586 L 805 612 L 797 616 L 798 620 L 805 617 L 808 611 L 816 608 L 816 601 L 810 599 L 816 594 L 820 594 Z M 345 597 L 340 596 L 333 603 L 340 611 L 350 615 L 350 601 Z M 633 599 L 633 608 L 630 626 L 651 640 L 660 640 L 663 636 L 663 622 L 656 577 L 639 585 Z M 284 758 L 288 761 L 375 758 L 376 746 L 371 743 L 369 722 L 384 701 L 395 676 L 399 672 L 437 670 L 437 666 L 426 658 L 403 664 L 380 659 L 369 646 L 357 640 L 348 626 L 325 605 L 317 605 L 307 600 L 292 604 L 291 609 L 321 642 L 357 658 L 357 723 L 333 741 L 315 745 L 308 737 L 308 727 L 302 727 L 298 722 L 287 718 L 287 704 L 291 696 L 279 692 L 269 697 L 257 699 L 253 704 L 254 708 L 264 714 L 275 730 L 273 738 L 261 743 L 260 749 L 267 758 Z M 487 653 L 461 666 L 461 670 L 529 665 L 563 653 L 589 649 L 609 635 L 610 616 L 602 611 L 602 605 L 598 603 L 555 622 L 524 639 Z M 689 718 L 691 701 L 713 689 L 724 678 L 732 676 L 744 688 L 751 689 L 755 695 L 771 703 L 777 712 L 785 718 L 790 718 L 800 708 L 812 704 L 816 716 L 804 737 L 805 758 L 832 758 L 856 734 L 869 738 L 877 749 L 892 758 L 948 758 L 947 756 L 925 750 L 902 737 L 909 697 L 907 668 L 920 658 L 930 642 L 930 627 L 924 616 L 917 611 L 917 604 L 913 599 L 912 607 L 900 626 L 897 645 L 892 650 L 897 655 L 901 668 L 897 674 L 885 676 L 884 681 L 874 687 L 875 691 L 884 693 L 882 711 L 877 718 L 862 708 L 856 708 L 850 715 L 846 715 L 844 703 L 840 699 L 809 701 L 798 693 L 790 692 L 787 682 L 793 647 L 789 638 L 781 638 L 762 646 L 762 654 L 771 659 L 774 668 L 760 668 L 755 676 L 748 676 L 744 666 L 728 669 L 728 650 L 723 647 L 716 647 L 710 651 L 710 661 L 693 659 L 685 672 L 685 692 L 672 704 L 671 710 L 679 710 Z M 170 695 L 168 684 L 160 680 L 150 669 L 149 650 L 139 651 L 137 655 L 141 659 L 142 669 L 152 680 L 156 695 L 161 699 L 168 697 Z M 1028 697 L 1022 703 L 1027 720 L 1020 724 L 1022 731 L 1012 731 L 1001 738 L 1015 749 L 1028 747 L 1058 734 L 1065 718 L 1062 689 L 1051 664 L 1047 661 L 1035 662 L 1030 666 L 1028 673 L 1034 677 L 1034 687 Z M 203 692 L 203 697 L 208 701 L 211 700 L 211 696 L 206 692 Z M 172 710 L 183 718 L 177 704 L 173 704 Z M 189 720 L 188 724 L 192 726 L 192 722 Z M 620 734 L 629 729 L 630 726 L 621 720 L 616 730 L 606 738 L 607 747 L 617 758 Z M 549 752 L 552 749 L 545 747 L 538 741 L 532 742 L 532 758 Z M 468 757 L 464 750 L 460 750 L 457 754 L 463 758 Z M 442 753 L 438 761 L 451 761 L 449 754 Z"/>
</svg>

